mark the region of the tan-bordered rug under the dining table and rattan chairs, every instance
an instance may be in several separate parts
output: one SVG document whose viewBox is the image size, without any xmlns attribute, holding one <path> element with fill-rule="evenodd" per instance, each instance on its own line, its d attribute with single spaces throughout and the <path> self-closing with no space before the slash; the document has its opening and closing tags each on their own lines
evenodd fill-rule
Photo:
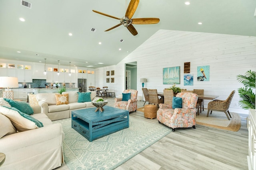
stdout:
<svg viewBox="0 0 256 170">
<path fill-rule="evenodd" d="M 138 108 L 137 111 L 144 112 L 144 107 Z M 206 117 L 207 111 L 204 109 L 202 113 L 196 115 L 196 124 L 235 132 L 240 129 L 241 118 L 238 113 L 230 112 L 232 118 L 228 120 L 226 114 L 220 111 L 212 111 L 212 114 L 209 113 L 209 116 Z"/>
</svg>

